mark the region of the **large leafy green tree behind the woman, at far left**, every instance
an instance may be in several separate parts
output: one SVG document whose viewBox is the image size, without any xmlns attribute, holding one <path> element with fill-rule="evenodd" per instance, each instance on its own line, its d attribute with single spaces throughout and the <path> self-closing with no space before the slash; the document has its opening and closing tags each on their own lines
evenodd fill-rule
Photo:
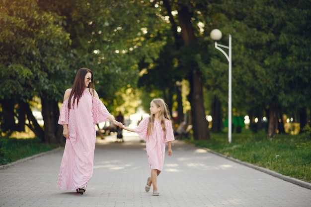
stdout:
<svg viewBox="0 0 311 207">
<path fill-rule="evenodd" d="M 151 19 L 144 17 L 149 15 L 148 12 L 141 12 L 148 11 L 148 7 L 142 2 L 3 2 L 6 4 L 1 7 L 1 21 L 3 25 L 8 26 L 1 32 L 2 41 L 6 44 L 5 50 L 1 50 L 1 77 L 10 75 L 4 73 L 4 68 L 14 67 L 10 72 L 14 73 L 17 83 L 21 84 L 14 85 L 14 90 L 9 89 L 2 93 L 1 100 L 14 103 L 22 100 L 23 103 L 29 103 L 34 97 L 40 97 L 45 125 L 43 130 L 37 124 L 29 104 L 24 105 L 28 106 L 27 110 L 19 109 L 21 103 L 16 109 L 19 114 L 15 112 L 15 108 L 10 108 L 10 112 L 3 108 L 1 125 L 14 131 L 15 120 L 7 119 L 10 120 L 10 125 L 6 124 L 4 118 L 8 115 L 13 117 L 15 114 L 19 118 L 18 125 L 22 125 L 25 123 L 22 117 L 27 112 L 28 127 L 45 142 L 61 141 L 61 136 L 57 135 L 60 134 L 57 124 L 58 102 L 62 100 L 65 89 L 71 87 L 79 67 L 86 66 L 95 72 L 97 91 L 101 97 L 105 97 L 104 102 L 109 108 L 117 100 L 122 104 L 120 99 L 116 98 L 117 92 L 135 88 L 139 73 L 138 63 L 142 59 L 151 61 L 161 47 L 161 44 L 157 44 L 156 41 L 148 42 L 146 38 L 148 35 L 145 34 L 145 25 L 149 25 Z M 7 19 L 9 22 L 6 22 Z M 16 25 L 11 24 L 11 20 L 14 20 Z M 138 24 L 134 27 L 130 24 L 132 22 Z M 16 33 L 16 30 L 19 33 Z M 12 32 L 18 34 L 18 38 L 6 38 Z M 23 47 L 19 47 L 20 45 Z M 8 81 L 1 82 L 1 85 L 9 82 L 9 79 L 5 80 Z M 7 87 L 2 89 L 4 92 Z M 122 96 L 119 94 L 119 97 Z M 9 108 L 9 103 L 2 106 Z"/>
</svg>

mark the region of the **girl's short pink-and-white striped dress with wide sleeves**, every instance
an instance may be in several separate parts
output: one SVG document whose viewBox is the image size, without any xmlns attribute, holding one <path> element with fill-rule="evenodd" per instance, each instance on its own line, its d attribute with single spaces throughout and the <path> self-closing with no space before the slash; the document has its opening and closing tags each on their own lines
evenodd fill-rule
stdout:
<svg viewBox="0 0 311 207">
<path fill-rule="evenodd" d="M 166 142 L 174 140 L 173 127 L 170 120 L 165 120 L 166 137 L 164 138 L 160 121 L 155 121 L 154 131 L 147 137 L 149 117 L 144 118 L 135 129 L 135 132 L 146 140 L 146 150 L 150 169 L 163 169 Z"/>
</svg>

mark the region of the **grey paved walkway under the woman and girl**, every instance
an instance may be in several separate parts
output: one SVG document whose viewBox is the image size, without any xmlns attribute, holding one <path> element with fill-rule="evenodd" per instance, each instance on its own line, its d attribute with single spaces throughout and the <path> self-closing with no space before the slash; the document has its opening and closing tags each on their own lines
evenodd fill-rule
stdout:
<svg viewBox="0 0 311 207">
<path fill-rule="evenodd" d="M 311 190 L 175 141 L 158 177 L 159 197 L 145 192 L 145 143 L 125 133 L 97 140 L 93 177 L 79 195 L 56 187 L 63 149 L 0 169 L 2 207 L 310 207 Z"/>
</svg>

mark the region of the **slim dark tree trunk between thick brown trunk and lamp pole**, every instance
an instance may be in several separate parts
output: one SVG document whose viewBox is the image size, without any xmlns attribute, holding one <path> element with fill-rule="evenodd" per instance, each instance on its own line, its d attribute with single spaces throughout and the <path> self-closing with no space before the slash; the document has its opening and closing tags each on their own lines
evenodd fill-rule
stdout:
<svg viewBox="0 0 311 207">
<path fill-rule="evenodd" d="M 223 127 L 221 107 L 222 105 L 219 99 L 217 97 L 214 97 L 211 112 L 211 115 L 213 117 L 212 132 L 220 132 Z"/>
</svg>

